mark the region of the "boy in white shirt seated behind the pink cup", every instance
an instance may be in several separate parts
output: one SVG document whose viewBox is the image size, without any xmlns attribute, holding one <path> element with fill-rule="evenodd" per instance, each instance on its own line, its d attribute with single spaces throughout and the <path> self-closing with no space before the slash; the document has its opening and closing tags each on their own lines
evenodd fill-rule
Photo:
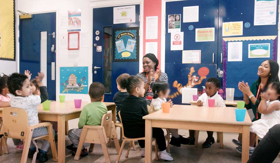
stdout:
<svg viewBox="0 0 280 163">
<path fill-rule="evenodd" d="M 205 84 L 206 90 L 201 96 L 198 97 L 197 105 L 198 106 L 208 106 L 208 99 L 215 99 L 215 105 L 219 107 L 225 107 L 223 98 L 218 94 L 220 89 L 220 80 L 216 77 L 210 77 Z M 207 131 L 208 137 L 206 141 L 202 144 L 202 147 L 209 148 L 215 139 L 213 137 L 213 131 Z M 194 145 L 194 130 L 189 130 L 189 137 L 187 138 L 189 145 Z"/>
</svg>

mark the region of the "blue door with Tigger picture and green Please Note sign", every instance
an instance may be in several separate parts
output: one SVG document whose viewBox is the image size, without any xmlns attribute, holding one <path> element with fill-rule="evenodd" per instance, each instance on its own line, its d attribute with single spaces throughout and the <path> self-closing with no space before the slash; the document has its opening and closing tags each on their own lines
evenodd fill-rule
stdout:
<svg viewBox="0 0 280 163">
<path fill-rule="evenodd" d="M 198 22 L 183 23 L 183 7 L 199 6 Z M 217 77 L 218 0 L 166 2 L 165 72 L 171 88 L 171 99 L 182 104 L 182 87 L 202 89 L 209 77 Z M 171 50 L 168 33 L 169 15 L 180 15 L 184 32 L 184 50 L 201 50 L 200 63 L 182 63 L 182 50 Z M 176 23 L 175 23 L 176 26 Z M 214 28 L 214 41 L 196 42 L 197 28 Z M 222 78 L 220 79 L 222 81 Z"/>
</svg>

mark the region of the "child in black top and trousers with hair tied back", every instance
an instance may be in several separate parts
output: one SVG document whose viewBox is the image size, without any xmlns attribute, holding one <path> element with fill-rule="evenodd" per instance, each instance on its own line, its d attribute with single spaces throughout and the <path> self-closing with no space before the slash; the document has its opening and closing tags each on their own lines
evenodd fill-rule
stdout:
<svg viewBox="0 0 280 163">
<path fill-rule="evenodd" d="M 129 96 L 123 100 L 120 106 L 120 114 L 123 123 L 124 135 L 129 138 L 145 137 L 145 119 L 143 116 L 149 114 L 147 102 L 144 96 L 144 81 L 140 77 L 131 76 L 122 81 Z M 161 151 L 159 157 L 163 160 L 172 161 L 173 158 L 166 152 L 166 141 L 161 128 L 152 128 L 152 137 L 156 138 L 157 146 Z M 138 140 L 142 148 L 141 156 L 145 157 L 145 140 Z"/>
</svg>

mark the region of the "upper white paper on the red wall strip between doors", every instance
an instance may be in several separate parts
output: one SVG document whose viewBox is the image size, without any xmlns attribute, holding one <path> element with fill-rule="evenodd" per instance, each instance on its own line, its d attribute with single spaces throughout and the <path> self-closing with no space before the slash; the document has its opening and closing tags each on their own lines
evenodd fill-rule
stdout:
<svg viewBox="0 0 280 163">
<path fill-rule="evenodd" d="M 157 39 L 158 16 L 146 16 L 146 39 Z"/>
</svg>

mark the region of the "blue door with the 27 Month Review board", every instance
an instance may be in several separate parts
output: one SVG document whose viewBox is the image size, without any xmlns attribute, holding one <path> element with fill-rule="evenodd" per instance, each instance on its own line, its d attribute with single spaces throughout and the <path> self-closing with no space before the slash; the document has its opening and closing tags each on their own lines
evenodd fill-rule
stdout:
<svg viewBox="0 0 280 163">
<path fill-rule="evenodd" d="M 114 94 L 118 91 L 116 79 L 120 74 L 136 75 L 139 73 L 139 61 L 115 61 L 113 58 L 115 50 L 113 39 L 114 30 L 129 29 L 130 27 L 139 28 L 140 5 L 135 5 L 136 20 L 134 23 L 114 24 L 113 9 L 114 7 L 93 9 L 92 81 L 104 84 L 106 88 L 104 101 L 106 102 L 113 101 Z M 137 37 L 139 37 L 138 32 Z M 102 46 L 102 50 L 97 52 L 99 46 Z"/>
</svg>

